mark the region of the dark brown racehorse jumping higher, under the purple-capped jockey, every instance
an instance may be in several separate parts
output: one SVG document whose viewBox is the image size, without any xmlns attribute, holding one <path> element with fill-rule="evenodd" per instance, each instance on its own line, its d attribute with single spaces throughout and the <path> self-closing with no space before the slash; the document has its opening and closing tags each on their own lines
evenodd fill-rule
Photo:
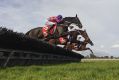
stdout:
<svg viewBox="0 0 119 80">
<path fill-rule="evenodd" d="M 56 29 L 57 32 L 54 33 L 52 36 L 51 35 L 49 36 L 49 40 L 48 40 L 49 43 L 50 44 L 54 44 L 54 43 L 55 44 L 60 44 L 58 42 L 58 40 L 55 38 L 55 36 L 60 36 L 61 34 L 64 34 L 65 32 L 67 32 L 68 31 L 68 26 L 72 23 L 77 25 L 79 28 L 82 28 L 82 24 L 81 24 L 79 18 L 77 17 L 77 15 L 75 17 L 65 17 L 65 18 L 63 18 L 62 22 L 57 24 L 58 26 L 62 26 L 62 27 L 57 27 L 57 29 Z M 31 37 L 31 38 L 44 39 L 44 36 L 43 36 L 43 33 L 42 33 L 42 27 L 37 27 L 37 28 L 31 29 L 30 31 L 28 31 L 26 33 L 26 35 Z"/>
</svg>

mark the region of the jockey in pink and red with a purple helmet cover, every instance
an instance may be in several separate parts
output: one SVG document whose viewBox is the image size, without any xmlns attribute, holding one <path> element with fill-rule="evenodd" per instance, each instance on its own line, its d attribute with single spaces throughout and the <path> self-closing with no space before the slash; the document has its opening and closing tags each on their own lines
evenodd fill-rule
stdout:
<svg viewBox="0 0 119 80">
<path fill-rule="evenodd" d="M 44 37 L 47 37 L 49 33 L 53 34 L 56 30 L 57 23 L 61 22 L 62 20 L 63 20 L 62 15 L 49 17 L 47 19 L 45 27 L 42 28 L 42 32 L 43 32 Z M 51 29 L 53 29 L 53 31 L 50 32 Z"/>
</svg>

